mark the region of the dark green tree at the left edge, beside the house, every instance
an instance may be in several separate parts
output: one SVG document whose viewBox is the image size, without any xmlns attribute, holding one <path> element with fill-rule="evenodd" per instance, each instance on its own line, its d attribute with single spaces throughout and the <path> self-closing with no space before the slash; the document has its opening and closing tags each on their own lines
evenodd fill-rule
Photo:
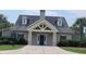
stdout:
<svg viewBox="0 0 86 64">
<path fill-rule="evenodd" d="M 0 14 L 0 29 L 10 27 L 11 24 L 3 14 Z"/>
</svg>

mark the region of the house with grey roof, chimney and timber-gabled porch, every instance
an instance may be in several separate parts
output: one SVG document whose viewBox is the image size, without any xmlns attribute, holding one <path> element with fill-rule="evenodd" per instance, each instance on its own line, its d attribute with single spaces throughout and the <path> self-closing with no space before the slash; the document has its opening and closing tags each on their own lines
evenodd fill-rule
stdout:
<svg viewBox="0 0 86 64">
<path fill-rule="evenodd" d="M 20 15 L 15 26 L 2 30 L 2 36 L 24 38 L 32 46 L 57 46 L 60 40 L 72 39 L 72 30 L 62 16 Z"/>
</svg>

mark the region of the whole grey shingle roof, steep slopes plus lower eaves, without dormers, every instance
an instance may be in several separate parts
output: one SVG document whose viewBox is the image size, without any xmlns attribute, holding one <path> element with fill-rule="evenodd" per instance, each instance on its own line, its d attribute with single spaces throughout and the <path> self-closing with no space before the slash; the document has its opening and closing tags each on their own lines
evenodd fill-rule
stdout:
<svg viewBox="0 0 86 64">
<path fill-rule="evenodd" d="M 27 18 L 29 18 L 29 24 L 22 25 L 22 16 L 26 16 Z M 15 23 L 15 26 L 12 27 L 11 29 L 12 30 L 27 30 L 27 26 L 29 26 L 33 23 L 37 22 L 39 18 L 40 18 L 40 16 L 38 16 L 38 15 L 20 15 L 17 21 L 16 21 L 16 23 Z M 58 18 L 62 18 L 63 20 L 63 26 L 62 27 L 59 27 L 57 25 Z M 62 16 L 46 16 L 46 21 L 51 23 L 59 30 L 59 33 L 73 33 L 70 29 L 65 18 L 62 17 Z"/>
</svg>

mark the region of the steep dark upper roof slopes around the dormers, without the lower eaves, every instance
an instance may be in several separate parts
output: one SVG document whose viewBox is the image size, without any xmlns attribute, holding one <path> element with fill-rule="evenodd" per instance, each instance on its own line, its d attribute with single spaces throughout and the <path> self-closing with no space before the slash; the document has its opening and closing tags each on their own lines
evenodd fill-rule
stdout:
<svg viewBox="0 0 86 64">
<path fill-rule="evenodd" d="M 38 16 L 38 15 L 20 15 L 19 18 L 17 18 L 17 21 L 16 21 L 16 24 L 15 24 L 15 25 L 17 25 L 17 26 L 19 26 L 19 25 L 22 25 L 22 24 L 21 24 L 21 23 L 22 23 L 22 16 L 26 16 L 27 18 L 29 18 L 29 23 L 26 24 L 26 26 L 33 24 L 34 22 L 36 22 L 36 21 L 38 21 L 38 20 L 40 18 L 40 16 Z M 60 17 L 63 20 L 63 26 L 62 26 L 62 27 L 69 27 L 69 25 L 67 25 L 65 18 L 62 17 L 62 16 L 46 16 L 46 20 L 47 20 L 48 22 L 50 22 L 53 26 L 58 27 L 58 26 L 57 26 L 57 21 L 58 21 L 58 18 L 60 18 Z"/>
</svg>

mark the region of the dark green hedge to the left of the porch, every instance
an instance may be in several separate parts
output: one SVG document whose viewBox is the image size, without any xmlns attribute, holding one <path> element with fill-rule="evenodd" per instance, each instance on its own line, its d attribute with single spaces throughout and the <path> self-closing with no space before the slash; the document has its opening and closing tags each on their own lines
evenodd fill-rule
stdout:
<svg viewBox="0 0 86 64">
<path fill-rule="evenodd" d="M 0 44 L 27 44 L 27 41 L 23 38 L 10 38 L 10 37 L 0 37 Z"/>
</svg>

